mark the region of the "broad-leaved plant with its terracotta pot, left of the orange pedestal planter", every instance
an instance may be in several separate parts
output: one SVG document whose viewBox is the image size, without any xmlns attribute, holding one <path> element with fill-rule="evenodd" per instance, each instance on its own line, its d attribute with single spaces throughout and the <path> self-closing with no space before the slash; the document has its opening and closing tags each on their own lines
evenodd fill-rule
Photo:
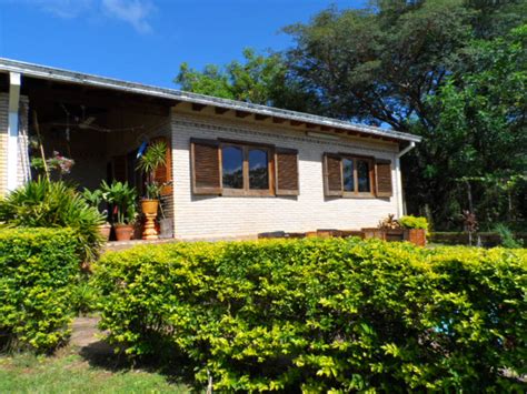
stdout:
<svg viewBox="0 0 527 394">
<path fill-rule="evenodd" d="M 127 182 L 113 181 L 111 184 L 102 181 L 102 196 L 112 205 L 113 229 L 117 241 L 129 241 L 133 234 L 133 222 L 137 216 L 135 188 Z"/>
</svg>

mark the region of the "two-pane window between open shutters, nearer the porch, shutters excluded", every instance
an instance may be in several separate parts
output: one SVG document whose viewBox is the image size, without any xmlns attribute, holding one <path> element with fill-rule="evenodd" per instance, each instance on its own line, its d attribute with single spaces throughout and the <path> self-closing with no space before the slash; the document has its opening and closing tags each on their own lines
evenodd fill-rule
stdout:
<svg viewBox="0 0 527 394">
<path fill-rule="evenodd" d="M 223 195 L 271 194 L 269 148 L 231 143 L 220 148 Z"/>
</svg>

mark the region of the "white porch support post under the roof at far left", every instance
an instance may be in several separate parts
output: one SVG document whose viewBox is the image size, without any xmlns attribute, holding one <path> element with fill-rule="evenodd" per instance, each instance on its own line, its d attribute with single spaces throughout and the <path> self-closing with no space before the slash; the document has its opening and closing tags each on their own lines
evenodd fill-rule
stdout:
<svg viewBox="0 0 527 394">
<path fill-rule="evenodd" d="M 18 72 L 9 73 L 9 118 L 8 118 L 8 191 L 18 186 L 18 128 L 20 107 L 20 82 Z"/>
</svg>

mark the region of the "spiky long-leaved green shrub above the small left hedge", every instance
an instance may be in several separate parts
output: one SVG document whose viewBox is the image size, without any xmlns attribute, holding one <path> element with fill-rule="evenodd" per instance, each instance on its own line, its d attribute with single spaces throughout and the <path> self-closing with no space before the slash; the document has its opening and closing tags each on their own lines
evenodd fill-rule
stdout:
<svg viewBox="0 0 527 394">
<path fill-rule="evenodd" d="M 99 225 L 105 218 L 62 181 L 40 178 L 0 200 L 0 228 L 70 228 L 86 261 L 101 246 Z"/>
</svg>

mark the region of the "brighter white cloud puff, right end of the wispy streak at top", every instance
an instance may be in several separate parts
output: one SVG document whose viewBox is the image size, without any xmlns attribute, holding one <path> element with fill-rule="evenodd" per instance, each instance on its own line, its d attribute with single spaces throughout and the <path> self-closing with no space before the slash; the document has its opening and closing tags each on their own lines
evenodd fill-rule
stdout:
<svg viewBox="0 0 527 394">
<path fill-rule="evenodd" d="M 153 6 L 149 1 L 102 0 L 102 7 L 109 16 L 130 23 L 141 33 L 152 31 L 152 28 L 147 20 L 153 11 Z"/>
</svg>

